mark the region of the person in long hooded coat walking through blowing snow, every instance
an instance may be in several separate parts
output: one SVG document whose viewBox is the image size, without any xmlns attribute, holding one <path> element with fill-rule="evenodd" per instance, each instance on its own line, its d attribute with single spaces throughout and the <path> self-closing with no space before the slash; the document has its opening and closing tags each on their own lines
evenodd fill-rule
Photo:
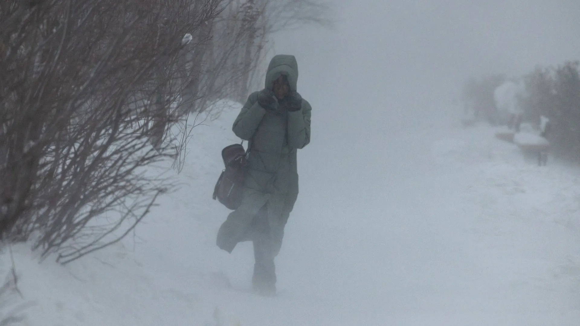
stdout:
<svg viewBox="0 0 580 326">
<path fill-rule="evenodd" d="M 253 241 L 252 288 L 260 295 L 276 294 L 274 258 L 298 197 L 296 151 L 310 143 L 312 108 L 297 83 L 295 56 L 274 56 L 264 89 L 248 97 L 233 125 L 235 135 L 248 140 L 247 172 L 242 203 L 227 216 L 216 242 L 231 253 L 238 242 Z"/>
</svg>

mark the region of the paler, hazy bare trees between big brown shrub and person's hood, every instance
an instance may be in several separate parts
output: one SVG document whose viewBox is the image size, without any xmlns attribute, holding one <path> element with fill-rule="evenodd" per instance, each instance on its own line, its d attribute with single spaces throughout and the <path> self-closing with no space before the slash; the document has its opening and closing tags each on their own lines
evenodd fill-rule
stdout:
<svg viewBox="0 0 580 326">
<path fill-rule="evenodd" d="M 330 6 L 320 0 L 223 0 L 222 13 L 200 29 L 185 61 L 189 87 L 183 105 L 197 112 L 220 99 L 245 102 L 263 82 L 276 32 L 311 24 L 331 27 Z M 192 100 L 193 99 L 193 100 Z M 197 101 L 194 101 L 197 100 Z M 215 117 L 218 117 L 216 113 Z"/>
</svg>

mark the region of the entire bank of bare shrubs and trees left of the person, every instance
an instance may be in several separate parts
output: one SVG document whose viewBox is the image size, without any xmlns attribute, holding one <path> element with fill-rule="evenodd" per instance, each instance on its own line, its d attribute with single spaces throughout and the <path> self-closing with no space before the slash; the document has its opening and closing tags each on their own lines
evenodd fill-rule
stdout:
<svg viewBox="0 0 580 326">
<path fill-rule="evenodd" d="M 32 239 L 62 263 L 121 240 L 173 189 L 150 170 L 170 157 L 181 171 L 195 114 L 245 99 L 271 33 L 316 21 L 318 9 L 306 0 L 0 2 L 0 240 Z"/>
</svg>

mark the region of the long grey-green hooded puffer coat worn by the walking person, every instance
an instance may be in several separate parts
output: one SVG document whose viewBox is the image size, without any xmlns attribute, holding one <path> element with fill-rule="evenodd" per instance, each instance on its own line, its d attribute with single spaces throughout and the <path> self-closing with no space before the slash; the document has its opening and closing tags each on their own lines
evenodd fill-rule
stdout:
<svg viewBox="0 0 580 326">
<path fill-rule="evenodd" d="M 270 61 L 264 87 L 286 75 L 291 90 L 298 83 L 298 63 L 294 56 L 277 55 Z M 274 97 L 276 98 L 276 97 Z M 231 212 L 218 231 L 217 244 L 227 252 L 241 241 L 252 240 L 252 219 L 267 205 L 270 237 L 274 254 L 280 250 L 284 226 L 298 197 L 296 150 L 310 142 L 312 108 L 302 100 L 299 111 L 287 111 L 276 101 L 266 110 L 258 104 L 258 92 L 252 93 L 234 121 L 233 131 L 248 140 L 248 171 L 242 204 Z"/>
</svg>

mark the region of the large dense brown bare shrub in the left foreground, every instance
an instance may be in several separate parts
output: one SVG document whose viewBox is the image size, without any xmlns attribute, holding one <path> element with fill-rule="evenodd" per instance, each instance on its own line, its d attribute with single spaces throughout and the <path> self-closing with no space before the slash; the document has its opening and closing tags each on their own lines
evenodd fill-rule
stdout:
<svg viewBox="0 0 580 326">
<path fill-rule="evenodd" d="M 36 234 L 64 263 L 118 241 L 171 189 L 144 168 L 169 149 L 183 35 L 219 1 L 27 3 L 0 9 L 0 232 Z"/>
</svg>

